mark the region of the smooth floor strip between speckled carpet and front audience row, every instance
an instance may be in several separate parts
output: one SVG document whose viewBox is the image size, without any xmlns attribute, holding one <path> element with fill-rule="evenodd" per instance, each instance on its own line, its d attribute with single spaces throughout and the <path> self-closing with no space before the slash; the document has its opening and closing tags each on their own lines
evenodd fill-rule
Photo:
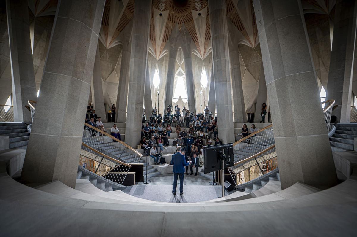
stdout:
<svg viewBox="0 0 357 237">
<path fill-rule="evenodd" d="M 155 177 L 149 178 L 151 181 L 150 184 L 140 184 L 142 185 L 172 185 L 174 181 L 174 174 L 162 174 Z M 188 169 L 188 175 L 185 174 L 183 177 L 183 185 L 209 185 L 208 182 L 211 182 L 212 179 L 207 179 L 200 175 L 190 175 L 190 169 Z M 177 181 L 177 186 L 179 185 L 180 180 Z"/>
</svg>

